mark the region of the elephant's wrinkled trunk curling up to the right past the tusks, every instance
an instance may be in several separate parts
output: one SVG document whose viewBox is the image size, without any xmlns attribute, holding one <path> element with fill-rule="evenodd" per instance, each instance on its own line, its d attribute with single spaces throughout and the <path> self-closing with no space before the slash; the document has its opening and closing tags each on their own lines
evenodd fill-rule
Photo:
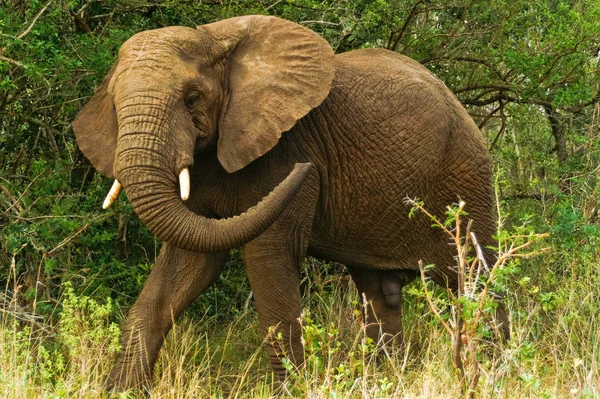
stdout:
<svg viewBox="0 0 600 399">
<path fill-rule="evenodd" d="M 156 135 L 120 133 L 116 172 L 134 211 L 160 240 L 188 251 L 223 251 L 256 238 L 281 215 L 311 168 L 296 164 L 254 207 L 230 218 L 211 219 L 192 212 L 181 200 L 173 161 L 148 144 L 156 143 Z"/>
</svg>

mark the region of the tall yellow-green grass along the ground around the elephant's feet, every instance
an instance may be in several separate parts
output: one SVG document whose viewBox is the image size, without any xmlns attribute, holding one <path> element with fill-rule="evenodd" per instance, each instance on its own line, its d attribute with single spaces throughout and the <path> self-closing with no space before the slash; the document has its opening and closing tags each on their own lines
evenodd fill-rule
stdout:
<svg viewBox="0 0 600 399">
<path fill-rule="evenodd" d="M 566 275 L 553 305 L 535 279 L 508 294 L 512 338 L 479 344 L 481 398 L 599 398 L 597 275 Z M 406 351 L 383 361 L 360 323 L 347 276 L 311 282 L 303 316 L 307 361 L 279 389 L 273 384 L 251 308 L 225 324 L 188 314 L 169 334 L 155 369 L 153 398 L 461 397 L 450 339 L 431 314 L 420 282 L 405 289 Z M 443 297 L 440 291 L 436 295 Z M 100 397 L 117 350 L 114 304 L 66 290 L 56 325 L 5 313 L 0 325 L 0 396 Z M 5 309 L 10 307 L 5 306 Z M 21 315 L 22 316 L 22 315 Z M 130 392 L 120 397 L 137 397 Z"/>
</svg>

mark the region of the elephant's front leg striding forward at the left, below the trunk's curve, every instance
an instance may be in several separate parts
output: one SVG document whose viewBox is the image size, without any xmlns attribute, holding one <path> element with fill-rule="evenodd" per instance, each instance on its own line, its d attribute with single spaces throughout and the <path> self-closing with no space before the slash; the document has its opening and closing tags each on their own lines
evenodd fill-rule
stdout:
<svg viewBox="0 0 600 399">
<path fill-rule="evenodd" d="M 218 277 L 227 253 L 193 253 L 164 244 L 125 320 L 122 352 L 105 387 L 124 391 L 147 385 L 165 336 L 189 304 Z"/>
</svg>

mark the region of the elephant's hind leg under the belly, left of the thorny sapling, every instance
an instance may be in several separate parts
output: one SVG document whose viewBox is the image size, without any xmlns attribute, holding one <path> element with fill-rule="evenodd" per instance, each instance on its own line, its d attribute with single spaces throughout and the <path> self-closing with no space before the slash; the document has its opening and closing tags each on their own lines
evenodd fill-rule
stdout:
<svg viewBox="0 0 600 399">
<path fill-rule="evenodd" d="M 402 287 L 417 277 L 414 271 L 372 270 L 348 267 L 364 301 L 366 334 L 378 346 L 400 346 L 402 330 Z"/>
</svg>

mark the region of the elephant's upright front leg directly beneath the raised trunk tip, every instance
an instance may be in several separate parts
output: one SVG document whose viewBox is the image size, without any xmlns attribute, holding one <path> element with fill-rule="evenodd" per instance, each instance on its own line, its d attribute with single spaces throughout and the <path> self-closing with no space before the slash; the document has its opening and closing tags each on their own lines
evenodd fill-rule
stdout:
<svg viewBox="0 0 600 399">
<path fill-rule="evenodd" d="M 295 365 L 304 362 L 300 270 L 318 199 L 318 190 L 311 189 L 316 182 L 310 183 L 276 223 L 243 247 L 264 348 L 280 380 L 287 375 L 282 358 Z"/>
</svg>

